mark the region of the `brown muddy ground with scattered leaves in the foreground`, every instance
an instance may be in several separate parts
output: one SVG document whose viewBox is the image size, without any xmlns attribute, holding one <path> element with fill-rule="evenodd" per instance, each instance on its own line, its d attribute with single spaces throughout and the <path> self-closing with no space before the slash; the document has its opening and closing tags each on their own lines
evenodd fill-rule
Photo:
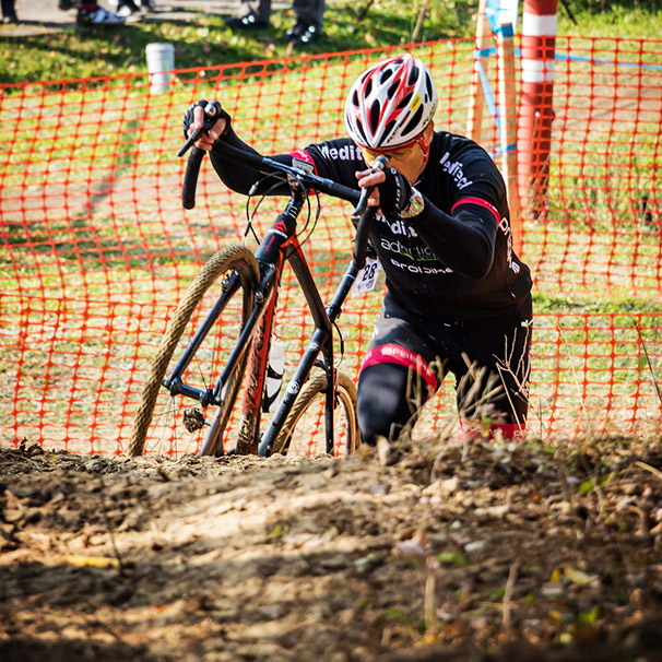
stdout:
<svg viewBox="0 0 662 662">
<path fill-rule="evenodd" d="M 382 449 L 383 450 L 383 449 Z M 662 660 L 662 444 L 0 449 L 0 660 Z"/>
</svg>

